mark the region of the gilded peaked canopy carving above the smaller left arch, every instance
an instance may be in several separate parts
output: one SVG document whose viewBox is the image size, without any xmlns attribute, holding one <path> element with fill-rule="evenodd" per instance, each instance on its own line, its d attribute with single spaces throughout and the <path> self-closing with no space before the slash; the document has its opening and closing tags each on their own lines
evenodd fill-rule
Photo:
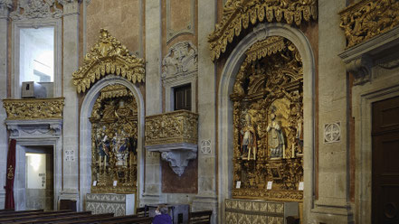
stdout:
<svg viewBox="0 0 399 224">
<path fill-rule="evenodd" d="M 79 70 L 73 72 L 73 85 L 78 93 L 85 92 L 107 75 L 121 76 L 132 83 L 145 82 L 145 61 L 130 55 L 125 45 L 101 29 L 99 42 L 86 54 Z"/>
</svg>

